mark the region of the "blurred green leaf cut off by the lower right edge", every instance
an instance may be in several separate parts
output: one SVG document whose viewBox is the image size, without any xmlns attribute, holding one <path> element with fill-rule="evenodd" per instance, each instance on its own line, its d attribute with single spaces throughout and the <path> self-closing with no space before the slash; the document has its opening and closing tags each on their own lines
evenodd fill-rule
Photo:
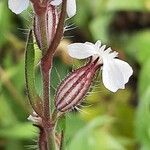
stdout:
<svg viewBox="0 0 150 150">
<path fill-rule="evenodd" d="M 150 149 L 150 87 L 144 92 L 137 109 L 135 121 L 136 137 L 143 150 Z"/>
</svg>

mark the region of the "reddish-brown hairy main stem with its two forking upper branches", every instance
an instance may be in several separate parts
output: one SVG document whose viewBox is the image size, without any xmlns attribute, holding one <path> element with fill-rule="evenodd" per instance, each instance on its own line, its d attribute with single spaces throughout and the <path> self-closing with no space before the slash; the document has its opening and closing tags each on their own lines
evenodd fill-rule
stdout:
<svg viewBox="0 0 150 150">
<path fill-rule="evenodd" d="M 57 30 L 54 36 L 54 39 L 50 46 L 47 43 L 47 28 L 45 21 L 45 14 L 38 18 L 38 23 L 40 24 L 40 33 L 41 33 L 41 50 L 42 50 L 42 59 L 41 59 L 41 72 L 43 80 L 43 130 L 40 133 L 39 148 L 40 150 L 57 150 L 57 145 L 55 141 L 55 124 L 51 114 L 51 103 L 50 103 L 50 77 L 51 77 L 51 68 L 53 55 L 56 51 L 58 44 L 60 43 L 63 36 L 63 27 L 66 14 L 66 0 L 63 0 L 62 10 L 60 15 L 60 20 L 57 26 Z M 42 137 L 42 134 L 44 137 Z"/>
</svg>

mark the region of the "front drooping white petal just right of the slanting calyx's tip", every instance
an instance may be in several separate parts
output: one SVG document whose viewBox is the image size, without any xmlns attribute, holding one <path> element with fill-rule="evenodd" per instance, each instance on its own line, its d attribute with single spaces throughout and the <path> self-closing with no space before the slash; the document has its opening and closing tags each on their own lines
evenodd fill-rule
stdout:
<svg viewBox="0 0 150 150">
<path fill-rule="evenodd" d="M 102 80 L 105 87 L 112 92 L 125 88 L 124 75 L 114 59 L 103 59 Z"/>
</svg>

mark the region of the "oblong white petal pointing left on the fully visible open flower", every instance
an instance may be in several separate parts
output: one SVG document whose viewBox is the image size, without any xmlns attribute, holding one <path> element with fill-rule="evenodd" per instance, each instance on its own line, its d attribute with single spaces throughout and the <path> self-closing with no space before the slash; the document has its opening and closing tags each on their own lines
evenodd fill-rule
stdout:
<svg viewBox="0 0 150 150">
<path fill-rule="evenodd" d="M 85 43 L 73 43 L 68 46 L 68 53 L 71 57 L 85 59 L 97 54 L 94 47 Z"/>
</svg>

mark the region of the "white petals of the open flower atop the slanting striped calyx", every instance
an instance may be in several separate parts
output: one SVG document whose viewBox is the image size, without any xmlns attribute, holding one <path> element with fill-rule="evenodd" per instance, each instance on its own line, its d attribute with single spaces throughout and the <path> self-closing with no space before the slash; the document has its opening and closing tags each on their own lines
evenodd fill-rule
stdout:
<svg viewBox="0 0 150 150">
<path fill-rule="evenodd" d="M 111 48 L 106 49 L 106 45 L 101 45 L 100 41 L 95 44 L 73 43 L 68 46 L 69 55 L 77 59 L 85 59 L 90 56 L 100 58 L 102 67 L 102 80 L 107 89 L 116 92 L 124 89 L 133 73 L 131 66 L 125 61 L 119 60 L 117 52 L 112 52 Z"/>
</svg>

